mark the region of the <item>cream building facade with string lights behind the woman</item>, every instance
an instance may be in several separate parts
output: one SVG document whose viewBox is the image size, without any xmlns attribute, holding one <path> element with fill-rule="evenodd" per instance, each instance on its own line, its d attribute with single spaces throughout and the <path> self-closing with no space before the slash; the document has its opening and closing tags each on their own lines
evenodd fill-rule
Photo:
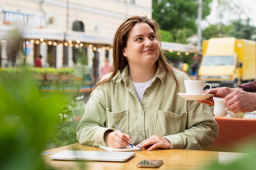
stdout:
<svg viewBox="0 0 256 170">
<path fill-rule="evenodd" d="M 32 66 L 42 55 L 44 66 L 83 63 L 100 76 L 115 31 L 131 15 L 152 18 L 152 0 L 1 0 L 0 65 Z"/>
</svg>

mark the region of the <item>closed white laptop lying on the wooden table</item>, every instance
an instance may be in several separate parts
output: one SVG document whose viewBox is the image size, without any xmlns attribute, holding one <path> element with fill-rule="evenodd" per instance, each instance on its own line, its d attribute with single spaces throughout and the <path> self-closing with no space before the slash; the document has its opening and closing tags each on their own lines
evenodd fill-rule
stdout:
<svg viewBox="0 0 256 170">
<path fill-rule="evenodd" d="M 49 159 L 125 162 L 134 155 L 135 152 L 63 150 L 52 156 L 49 156 Z"/>
</svg>

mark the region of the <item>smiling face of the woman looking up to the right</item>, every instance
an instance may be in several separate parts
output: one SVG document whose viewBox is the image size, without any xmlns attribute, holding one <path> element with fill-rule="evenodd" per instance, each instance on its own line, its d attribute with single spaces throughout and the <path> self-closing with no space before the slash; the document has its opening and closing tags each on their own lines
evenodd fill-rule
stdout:
<svg viewBox="0 0 256 170">
<path fill-rule="evenodd" d="M 143 22 L 132 26 L 123 55 L 127 57 L 130 68 L 155 64 L 159 57 L 159 44 L 153 29 L 148 24 Z"/>
</svg>

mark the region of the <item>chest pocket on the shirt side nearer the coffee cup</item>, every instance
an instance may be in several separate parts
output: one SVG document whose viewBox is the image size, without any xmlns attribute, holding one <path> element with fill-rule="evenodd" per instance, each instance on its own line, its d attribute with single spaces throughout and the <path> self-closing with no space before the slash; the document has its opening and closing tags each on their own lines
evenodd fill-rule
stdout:
<svg viewBox="0 0 256 170">
<path fill-rule="evenodd" d="M 177 115 L 172 112 L 158 110 L 155 119 L 154 135 L 163 137 L 184 132 L 186 118 L 187 112 Z"/>
</svg>

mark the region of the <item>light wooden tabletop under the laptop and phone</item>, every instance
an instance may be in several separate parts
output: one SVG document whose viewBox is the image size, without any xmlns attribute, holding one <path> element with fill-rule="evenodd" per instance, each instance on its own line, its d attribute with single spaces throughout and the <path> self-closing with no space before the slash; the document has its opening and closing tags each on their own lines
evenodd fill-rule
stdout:
<svg viewBox="0 0 256 170">
<path fill-rule="evenodd" d="M 126 162 L 104 162 L 104 161 L 58 161 L 49 159 L 50 155 L 54 155 L 63 150 L 101 150 L 98 147 L 84 146 L 81 144 L 72 144 L 59 148 L 45 150 L 43 159 L 46 168 L 54 168 L 57 170 L 152 170 L 152 168 L 137 168 L 137 163 L 143 159 L 160 159 L 164 160 L 159 170 L 198 170 L 208 166 L 214 161 L 227 162 L 239 157 L 243 157 L 243 153 L 234 152 L 213 152 L 202 150 L 182 150 L 182 149 L 166 149 L 147 151 L 142 149 L 136 151 L 134 157 Z M 101 150 L 103 151 L 103 150 Z"/>
</svg>

